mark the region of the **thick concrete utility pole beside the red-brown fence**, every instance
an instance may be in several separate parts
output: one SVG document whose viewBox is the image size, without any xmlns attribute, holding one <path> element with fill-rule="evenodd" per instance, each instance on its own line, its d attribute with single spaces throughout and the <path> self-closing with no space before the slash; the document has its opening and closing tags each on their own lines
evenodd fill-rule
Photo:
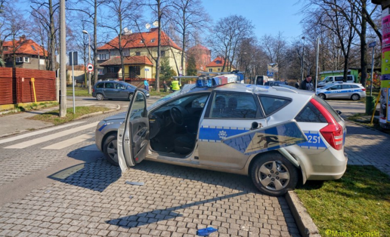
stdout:
<svg viewBox="0 0 390 237">
<path fill-rule="evenodd" d="M 66 29 L 65 29 L 65 0 L 59 1 L 59 81 L 60 81 L 60 97 L 59 97 L 59 116 L 67 115 L 67 62 L 65 60 L 67 54 L 66 45 Z"/>
</svg>

